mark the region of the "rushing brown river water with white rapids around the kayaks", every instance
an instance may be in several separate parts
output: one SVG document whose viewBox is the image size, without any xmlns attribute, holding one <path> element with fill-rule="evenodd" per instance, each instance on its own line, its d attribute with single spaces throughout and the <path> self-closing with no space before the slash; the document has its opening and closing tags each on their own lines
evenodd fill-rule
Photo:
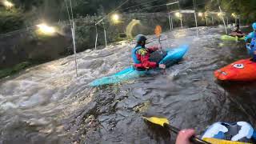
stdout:
<svg viewBox="0 0 256 144">
<path fill-rule="evenodd" d="M 256 126 L 254 82 L 218 82 L 213 72 L 247 58 L 243 42 L 222 42 L 223 29 L 200 27 L 162 34 L 162 47 L 189 44 L 166 74 L 110 86 L 88 83 L 130 66 L 134 42 L 34 66 L 0 83 L 0 143 L 173 143 L 175 134 L 143 121 L 163 116 L 198 134 L 213 122 Z M 158 39 L 149 36 L 149 45 Z"/>
</svg>

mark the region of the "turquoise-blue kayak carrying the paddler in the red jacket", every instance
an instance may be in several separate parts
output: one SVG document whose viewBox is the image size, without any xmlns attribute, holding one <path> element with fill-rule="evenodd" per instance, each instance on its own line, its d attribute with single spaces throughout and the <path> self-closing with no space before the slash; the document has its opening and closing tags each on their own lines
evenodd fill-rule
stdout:
<svg viewBox="0 0 256 144">
<path fill-rule="evenodd" d="M 186 54 L 186 51 L 189 49 L 188 45 L 182 45 L 178 48 L 168 49 L 166 50 L 166 57 L 162 58 L 162 61 L 159 63 L 166 64 L 166 66 L 172 66 L 175 63 L 182 60 L 183 56 Z M 144 76 L 146 74 L 151 74 L 155 70 L 145 70 L 145 71 L 138 71 L 134 69 L 134 66 L 130 66 L 116 74 L 110 75 L 108 77 L 103 77 L 90 82 L 90 86 L 102 86 L 108 84 L 114 84 L 118 82 L 125 82 L 130 79 L 138 78 Z"/>
</svg>

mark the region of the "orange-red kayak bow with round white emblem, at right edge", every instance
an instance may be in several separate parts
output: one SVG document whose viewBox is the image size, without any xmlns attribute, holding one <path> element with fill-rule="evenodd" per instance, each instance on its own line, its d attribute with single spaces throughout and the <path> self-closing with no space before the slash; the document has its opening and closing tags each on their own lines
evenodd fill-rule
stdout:
<svg viewBox="0 0 256 144">
<path fill-rule="evenodd" d="M 214 76 L 222 81 L 256 81 L 256 62 L 242 59 L 215 70 Z"/>
</svg>

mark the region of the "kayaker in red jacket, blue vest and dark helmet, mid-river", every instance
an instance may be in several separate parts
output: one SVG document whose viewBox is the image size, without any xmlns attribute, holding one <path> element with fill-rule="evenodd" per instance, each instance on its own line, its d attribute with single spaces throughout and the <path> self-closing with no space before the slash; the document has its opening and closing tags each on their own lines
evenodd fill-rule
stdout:
<svg viewBox="0 0 256 144">
<path fill-rule="evenodd" d="M 166 69 L 166 65 L 158 62 L 150 61 L 150 55 L 161 49 L 161 46 L 146 47 L 146 36 L 138 34 L 136 36 L 137 45 L 132 50 L 132 58 L 134 60 L 134 67 L 136 70 L 150 70 L 159 67 Z"/>
</svg>

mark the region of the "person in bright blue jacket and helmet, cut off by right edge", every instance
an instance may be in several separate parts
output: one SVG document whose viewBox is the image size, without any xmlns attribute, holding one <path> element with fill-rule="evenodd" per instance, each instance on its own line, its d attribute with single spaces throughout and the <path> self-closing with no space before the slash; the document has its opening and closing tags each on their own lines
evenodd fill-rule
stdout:
<svg viewBox="0 0 256 144">
<path fill-rule="evenodd" d="M 247 45 L 249 44 L 250 45 L 250 49 L 251 51 L 253 52 L 253 59 L 252 61 L 253 62 L 256 62 L 256 22 L 253 23 L 253 29 L 254 31 L 251 32 L 250 34 L 246 35 L 246 38 L 245 38 L 245 41 L 247 43 Z M 248 43 L 248 40 L 251 39 L 250 43 Z"/>
</svg>

